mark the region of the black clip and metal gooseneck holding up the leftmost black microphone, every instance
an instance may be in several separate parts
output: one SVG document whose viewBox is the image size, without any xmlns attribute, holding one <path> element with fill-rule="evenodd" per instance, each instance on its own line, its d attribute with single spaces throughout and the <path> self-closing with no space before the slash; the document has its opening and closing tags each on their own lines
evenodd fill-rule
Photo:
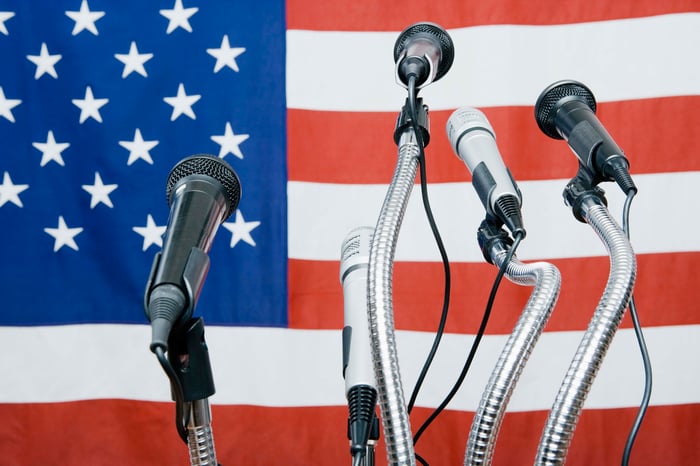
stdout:
<svg viewBox="0 0 700 466">
<path fill-rule="evenodd" d="M 179 421 L 187 429 L 190 463 L 192 466 L 216 466 L 208 400 L 216 390 L 204 340 L 204 320 L 192 318 L 185 325 L 175 327 L 170 333 L 168 348 L 168 360 L 183 392 L 178 412 L 183 413 Z"/>
</svg>

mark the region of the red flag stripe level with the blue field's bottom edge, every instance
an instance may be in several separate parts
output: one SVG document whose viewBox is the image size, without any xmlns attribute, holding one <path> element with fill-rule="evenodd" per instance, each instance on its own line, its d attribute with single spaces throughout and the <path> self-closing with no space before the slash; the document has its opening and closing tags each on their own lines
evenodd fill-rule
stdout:
<svg viewBox="0 0 700 466">
<path fill-rule="evenodd" d="M 635 301 L 643 326 L 697 324 L 693 286 L 700 253 L 641 254 Z M 610 271 L 607 257 L 550 261 L 562 274 L 562 287 L 547 331 L 584 330 L 593 316 Z M 289 261 L 289 326 L 297 329 L 343 327 L 343 293 L 339 263 Z M 479 327 L 496 268 L 490 264 L 452 263 L 452 294 L 447 331 L 474 334 Z M 436 262 L 394 264 L 394 319 L 398 330 L 434 332 L 443 296 L 443 268 Z M 487 332 L 509 334 L 532 287 L 504 280 Z M 663 312 L 659 312 L 663 310 Z M 626 315 L 623 328 L 631 327 Z"/>
</svg>

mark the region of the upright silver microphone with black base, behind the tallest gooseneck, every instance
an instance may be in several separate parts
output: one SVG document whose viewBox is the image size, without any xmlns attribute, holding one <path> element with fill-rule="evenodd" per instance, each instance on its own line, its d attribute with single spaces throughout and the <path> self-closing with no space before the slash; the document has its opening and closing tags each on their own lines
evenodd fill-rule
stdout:
<svg viewBox="0 0 700 466">
<path fill-rule="evenodd" d="M 367 272 L 373 234 L 373 228 L 355 228 L 347 234 L 340 249 L 345 325 L 343 378 L 350 412 L 348 437 L 353 456 L 365 454 L 377 403 L 367 320 Z"/>
</svg>

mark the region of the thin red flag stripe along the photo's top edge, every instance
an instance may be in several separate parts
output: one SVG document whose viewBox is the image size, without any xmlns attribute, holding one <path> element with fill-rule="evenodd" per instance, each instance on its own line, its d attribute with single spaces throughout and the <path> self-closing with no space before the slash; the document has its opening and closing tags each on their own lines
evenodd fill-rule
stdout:
<svg viewBox="0 0 700 466">
<path fill-rule="evenodd" d="M 561 3 L 461 2 L 444 5 L 421 0 L 354 2 L 287 2 L 287 27 L 320 31 L 403 30 L 419 21 L 438 23 L 446 29 L 485 24 L 550 25 L 612 19 L 639 18 L 697 11 L 694 0 L 639 0 L 609 2 L 590 0 Z"/>
</svg>

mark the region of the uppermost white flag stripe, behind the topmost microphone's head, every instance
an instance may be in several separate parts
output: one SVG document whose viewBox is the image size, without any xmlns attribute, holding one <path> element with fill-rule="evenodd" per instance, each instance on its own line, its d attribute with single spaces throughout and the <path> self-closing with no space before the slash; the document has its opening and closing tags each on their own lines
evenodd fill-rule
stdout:
<svg viewBox="0 0 700 466">
<path fill-rule="evenodd" d="M 687 53 L 698 30 L 698 13 L 452 29 L 452 69 L 422 95 L 431 110 L 534 105 L 560 79 L 585 83 L 600 102 L 700 94 L 700 67 Z M 394 81 L 397 34 L 288 31 L 287 106 L 398 111 L 405 90 Z"/>
</svg>

